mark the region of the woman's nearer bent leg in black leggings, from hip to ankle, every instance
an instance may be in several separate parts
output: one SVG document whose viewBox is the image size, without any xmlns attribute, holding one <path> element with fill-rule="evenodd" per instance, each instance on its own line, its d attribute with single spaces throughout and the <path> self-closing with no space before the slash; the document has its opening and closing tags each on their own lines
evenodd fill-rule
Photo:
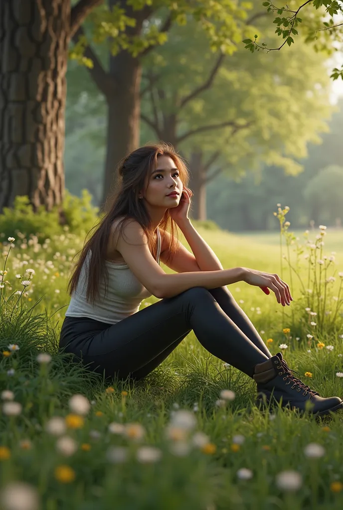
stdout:
<svg viewBox="0 0 343 510">
<path fill-rule="evenodd" d="M 173 343 L 176 347 L 176 340 L 184 338 L 191 329 L 211 354 L 250 377 L 254 366 L 268 359 L 204 287 L 161 299 L 82 343 L 76 336 L 67 350 L 81 353 L 86 364 L 98 367 L 96 371 L 127 378 Z"/>
</svg>

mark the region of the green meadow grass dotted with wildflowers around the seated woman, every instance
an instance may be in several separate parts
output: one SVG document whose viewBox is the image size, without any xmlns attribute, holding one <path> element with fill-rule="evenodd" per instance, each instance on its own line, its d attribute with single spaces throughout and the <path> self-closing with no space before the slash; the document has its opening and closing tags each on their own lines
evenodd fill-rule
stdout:
<svg viewBox="0 0 343 510">
<path fill-rule="evenodd" d="M 276 241 L 201 228 L 199 232 L 224 268 L 239 265 L 280 274 Z M 330 254 L 332 246 L 339 246 L 340 242 L 340 233 L 329 232 L 325 251 Z M 4 403 L 11 400 L 3 399 L 0 507 L 340 509 L 341 413 L 321 421 L 278 408 L 261 413 L 254 405 L 252 379 L 234 367 L 225 367 L 223 361 L 199 344 L 192 332 L 167 360 L 136 385 L 109 384 L 72 363 L 68 354 L 58 352 L 59 330 L 69 301 L 65 292 L 68 268 L 71 256 L 82 244 L 83 239 L 68 232 L 42 246 L 33 242 L 21 248 L 20 242 L 15 241 L 7 259 L 8 273 L 3 279 L 8 283 L 2 289 L 6 299 L 21 291 L 23 279 L 31 279 L 32 283 L 20 296 L 18 309 L 13 311 L 11 303 L 19 295 L 14 295 L 7 305 L 2 301 L 0 349 L 9 355 L 2 354 L 0 359 L 0 389 L 13 392 L 21 409 L 17 415 L 6 414 Z M 4 241 L 4 261 L 8 248 Z M 292 245 L 290 250 L 294 248 Z M 295 273 L 295 301 L 287 309 L 277 303 L 273 293 L 266 296 L 259 288 L 241 282 L 229 287 L 263 340 L 273 340 L 268 343 L 269 350 L 274 354 L 281 343 L 286 343 L 285 358 L 290 367 L 298 370 L 302 379 L 322 396 L 343 393 L 343 378 L 336 376 L 342 371 L 343 360 L 339 356 L 343 353 L 340 312 L 331 320 L 334 307 L 340 302 L 332 297 L 338 295 L 337 271 L 342 270 L 339 259 L 343 246 L 335 251 L 336 261 L 326 276 L 336 274 L 336 281 L 324 285 L 328 294 L 326 310 L 332 313 L 316 319 L 318 331 L 310 325 L 311 317 L 305 311 L 310 299 L 316 303 L 317 287 L 312 294 L 303 294 Z M 298 260 L 299 275 L 307 282 L 303 253 L 298 257 L 295 252 L 291 255 L 295 265 Z M 283 264 L 283 279 L 289 283 L 286 260 Z M 145 300 L 141 307 L 156 300 Z M 311 310 L 315 310 L 313 305 Z M 290 332 L 284 333 L 284 328 L 290 328 Z M 313 334 L 310 340 L 309 334 Z M 320 342 L 324 347 L 317 347 Z M 9 349 L 10 344 L 19 350 Z M 333 345 L 333 349 L 326 349 L 327 345 Z M 50 353 L 51 361 L 39 363 L 40 352 Z M 306 377 L 305 372 L 312 377 Z M 220 399 L 220 392 L 227 389 L 235 393 L 234 400 Z M 75 410 L 70 403 L 75 394 L 87 398 L 89 410 Z M 187 411 L 184 416 L 180 414 L 182 410 Z M 51 433 L 53 417 L 62 418 L 60 435 Z M 180 425 L 178 420 L 182 417 Z M 322 452 L 318 450 L 320 456 L 305 454 L 310 443 L 323 447 Z M 240 471 L 242 468 L 246 471 Z M 288 470 L 301 476 L 297 490 L 282 489 L 277 483 L 278 475 Z M 27 485 L 13 485 L 19 481 Z M 24 496 L 27 506 L 13 506 L 18 494 Z"/>
</svg>

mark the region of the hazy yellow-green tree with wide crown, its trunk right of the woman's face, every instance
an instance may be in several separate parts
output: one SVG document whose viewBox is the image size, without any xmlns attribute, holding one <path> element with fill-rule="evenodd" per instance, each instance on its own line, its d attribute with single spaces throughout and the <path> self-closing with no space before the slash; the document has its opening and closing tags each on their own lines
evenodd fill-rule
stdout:
<svg viewBox="0 0 343 510">
<path fill-rule="evenodd" d="M 330 80 L 324 56 L 304 43 L 291 58 L 242 48 L 214 60 L 189 27 L 188 35 L 173 29 L 168 45 L 144 59 L 142 119 L 148 140 L 173 143 L 188 159 L 193 216 L 204 220 L 206 185 L 219 173 L 238 177 L 262 163 L 302 170 L 306 144 L 327 130 Z"/>
</svg>

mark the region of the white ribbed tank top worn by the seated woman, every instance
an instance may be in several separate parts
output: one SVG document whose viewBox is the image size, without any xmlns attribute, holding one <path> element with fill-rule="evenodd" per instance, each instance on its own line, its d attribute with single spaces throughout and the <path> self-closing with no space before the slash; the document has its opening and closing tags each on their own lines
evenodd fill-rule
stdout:
<svg viewBox="0 0 343 510">
<path fill-rule="evenodd" d="M 157 227 L 157 256 L 160 263 L 161 235 Z M 89 250 L 85 263 L 88 265 L 91 255 Z M 105 296 L 104 279 L 100 282 L 100 297 L 95 300 L 94 306 L 86 301 L 88 275 L 82 266 L 80 278 L 75 292 L 72 294 L 69 306 L 65 312 L 66 317 L 89 317 L 91 319 L 115 324 L 139 310 L 143 299 L 152 296 L 133 274 L 127 264 L 109 262 L 105 260 L 108 270 L 108 289 Z M 89 266 L 88 266 L 89 267 Z"/>
</svg>

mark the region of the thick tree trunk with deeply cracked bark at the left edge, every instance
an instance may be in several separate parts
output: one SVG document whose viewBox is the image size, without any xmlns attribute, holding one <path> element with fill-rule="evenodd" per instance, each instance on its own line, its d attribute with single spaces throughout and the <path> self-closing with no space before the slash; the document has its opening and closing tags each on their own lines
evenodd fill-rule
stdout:
<svg viewBox="0 0 343 510">
<path fill-rule="evenodd" d="M 69 30 L 70 0 L 0 2 L 0 211 L 63 199 Z"/>
</svg>

